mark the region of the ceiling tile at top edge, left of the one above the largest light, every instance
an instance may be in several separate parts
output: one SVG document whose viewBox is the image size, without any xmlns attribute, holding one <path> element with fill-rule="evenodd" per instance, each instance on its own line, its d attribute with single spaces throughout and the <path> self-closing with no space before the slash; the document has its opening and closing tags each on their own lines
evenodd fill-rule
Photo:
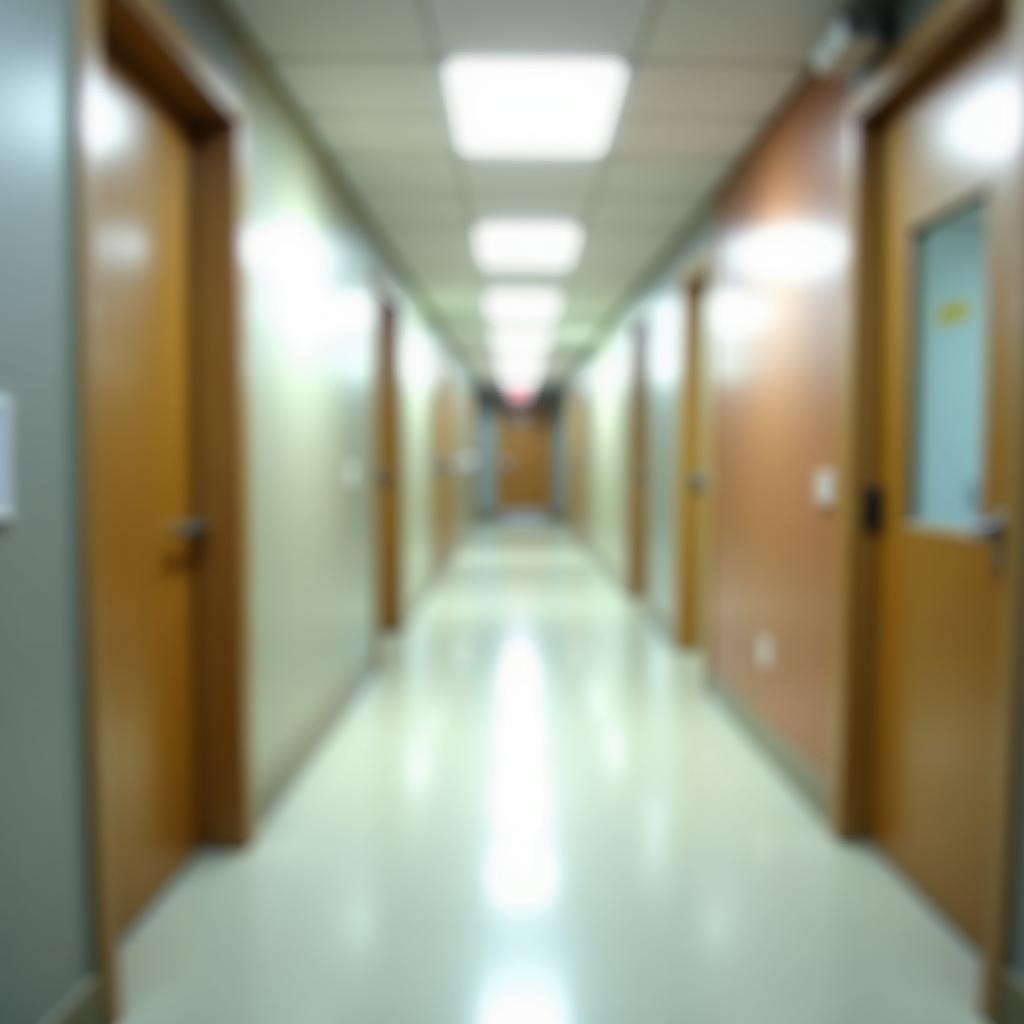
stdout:
<svg viewBox="0 0 1024 1024">
<path fill-rule="evenodd" d="M 274 57 L 425 57 L 415 0 L 229 0 Z"/>
</svg>

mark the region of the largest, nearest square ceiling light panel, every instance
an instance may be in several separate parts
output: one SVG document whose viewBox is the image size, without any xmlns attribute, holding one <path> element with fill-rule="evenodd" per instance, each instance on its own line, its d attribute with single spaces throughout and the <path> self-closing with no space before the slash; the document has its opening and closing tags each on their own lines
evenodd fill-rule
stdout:
<svg viewBox="0 0 1024 1024">
<path fill-rule="evenodd" d="M 621 57 L 465 54 L 441 67 L 453 143 L 467 160 L 603 160 L 630 83 Z"/>
</svg>

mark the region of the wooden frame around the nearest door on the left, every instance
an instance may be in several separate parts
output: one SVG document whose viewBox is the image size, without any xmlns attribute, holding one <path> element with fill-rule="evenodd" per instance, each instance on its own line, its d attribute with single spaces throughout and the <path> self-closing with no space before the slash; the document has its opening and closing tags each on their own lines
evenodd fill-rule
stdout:
<svg viewBox="0 0 1024 1024">
<path fill-rule="evenodd" d="M 242 344 L 236 273 L 236 203 L 241 105 L 163 12 L 138 0 L 85 0 L 80 5 L 74 91 L 74 172 L 79 372 L 78 418 L 82 465 L 80 539 L 83 648 L 88 729 L 88 815 L 92 846 L 94 936 L 102 1012 L 119 1007 L 118 935 L 110 899 L 113 841 L 100 785 L 103 741 L 101 688 L 93 659 L 90 566 L 91 498 L 86 381 L 94 339 L 88 280 L 93 214 L 90 182 L 95 158 L 86 139 L 87 112 L 97 76 L 108 67 L 128 72 L 182 126 L 191 146 L 191 316 L 194 469 L 198 504 L 211 524 L 196 577 L 194 620 L 197 709 L 197 831 L 202 843 L 244 844 L 252 834 L 248 770 L 247 521 Z"/>
</svg>

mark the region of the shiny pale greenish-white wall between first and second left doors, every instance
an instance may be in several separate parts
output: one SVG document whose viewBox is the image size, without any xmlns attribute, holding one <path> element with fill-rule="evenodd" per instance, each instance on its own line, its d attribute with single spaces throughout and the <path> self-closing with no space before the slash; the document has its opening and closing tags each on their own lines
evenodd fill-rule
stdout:
<svg viewBox="0 0 1024 1024">
<path fill-rule="evenodd" d="M 261 803 L 365 670 L 374 635 L 376 267 L 262 83 L 246 83 L 252 754 Z"/>
</svg>

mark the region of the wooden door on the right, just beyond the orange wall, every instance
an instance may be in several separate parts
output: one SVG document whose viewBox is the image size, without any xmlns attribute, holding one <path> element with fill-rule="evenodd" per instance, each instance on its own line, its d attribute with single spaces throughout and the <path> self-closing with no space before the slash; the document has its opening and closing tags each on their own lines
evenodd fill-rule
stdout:
<svg viewBox="0 0 1024 1024">
<path fill-rule="evenodd" d="M 682 425 L 682 515 L 680 525 L 680 640 L 687 647 L 708 642 L 707 609 L 712 544 L 711 388 L 702 334 L 703 286 L 687 296 L 687 337 Z"/>
</svg>

